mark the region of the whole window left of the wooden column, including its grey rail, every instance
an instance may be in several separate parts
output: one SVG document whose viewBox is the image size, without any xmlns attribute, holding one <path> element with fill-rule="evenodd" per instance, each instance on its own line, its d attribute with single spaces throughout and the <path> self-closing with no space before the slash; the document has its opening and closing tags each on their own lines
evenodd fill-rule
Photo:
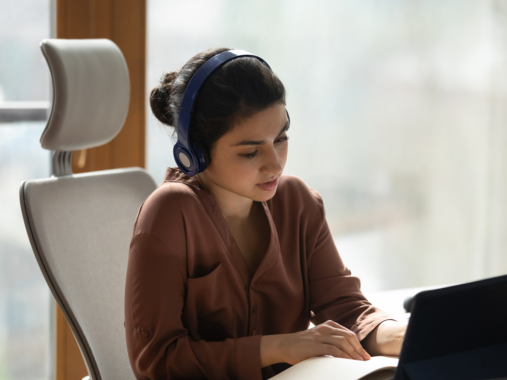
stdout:
<svg viewBox="0 0 507 380">
<path fill-rule="evenodd" d="M 50 99 L 39 43 L 50 37 L 50 1 L 0 7 L 0 379 L 47 379 L 51 293 L 26 235 L 19 185 L 51 174 L 39 143 Z"/>
</svg>

